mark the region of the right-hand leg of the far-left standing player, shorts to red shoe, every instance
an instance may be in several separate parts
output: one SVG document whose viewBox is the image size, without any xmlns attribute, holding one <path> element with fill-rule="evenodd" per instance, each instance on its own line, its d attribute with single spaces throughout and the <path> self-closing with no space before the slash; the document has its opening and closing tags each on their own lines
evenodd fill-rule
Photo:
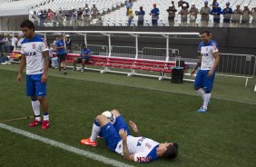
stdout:
<svg viewBox="0 0 256 167">
<path fill-rule="evenodd" d="M 42 74 L 34 75 L 34 80 L 36 80 L 35 95 L 36 95 L 36 98 L 38 99 L 38 101 L 40 102 L 40 105 L 44 112 L 44 121 L 43 121 L 42 129 L 47 129 L 50 127 L 49 106 L 48 106 L 48 102 L 45 97 L 46 96 L 46 83 L 41 83 L 41 77 L 42 77 Z"/>
</svg>

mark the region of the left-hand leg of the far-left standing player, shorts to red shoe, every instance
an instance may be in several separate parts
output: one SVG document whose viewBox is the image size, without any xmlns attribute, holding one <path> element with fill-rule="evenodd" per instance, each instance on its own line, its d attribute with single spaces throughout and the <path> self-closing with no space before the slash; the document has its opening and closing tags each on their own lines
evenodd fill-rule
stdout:
<svg viewBox="0 0 256 167">
<path fill-rule="evenodd" d="M 29 123 L 29 127 L 34 127 L 42 122 L 40 117 L 40 102 L 35 96 L 35 85 L 32 75 L 26 75 L 26 95 L 31 98 L 31 104 L 34 112 L 34 121 Z"/>
</svg>

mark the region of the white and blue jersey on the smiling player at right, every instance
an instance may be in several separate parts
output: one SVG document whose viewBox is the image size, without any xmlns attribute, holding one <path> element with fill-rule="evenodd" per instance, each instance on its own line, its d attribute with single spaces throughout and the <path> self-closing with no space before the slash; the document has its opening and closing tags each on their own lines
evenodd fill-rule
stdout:
<svg viewBox="0 0 256 167">
<path fill-rule="evenodd" d="M 200 43 L 198 51 L 201 53 L 202 57 L 201 70 L 211 70 L 212 65 L 215 62 L 213 53 L 219 51 L 218 44 L 212 40 L 208 44 Z"/>
</svg>

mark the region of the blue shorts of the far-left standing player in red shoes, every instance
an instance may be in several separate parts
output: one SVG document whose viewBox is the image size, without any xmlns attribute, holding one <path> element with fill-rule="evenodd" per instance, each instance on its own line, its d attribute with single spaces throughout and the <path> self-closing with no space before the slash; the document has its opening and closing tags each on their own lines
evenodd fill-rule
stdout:
<svg viewBox="0 0 256 167">
<path fill-rule="evenodd" d="M 45 96 L 46 83 L 41 83 L 43 74 L 26 75 L 26 95 L 27 96 Z"/>
</svg>

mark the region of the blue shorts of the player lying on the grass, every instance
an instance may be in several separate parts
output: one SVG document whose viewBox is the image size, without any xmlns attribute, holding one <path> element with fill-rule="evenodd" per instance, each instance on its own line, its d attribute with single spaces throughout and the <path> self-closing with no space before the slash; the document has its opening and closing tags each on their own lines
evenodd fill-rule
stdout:
<svg viewBox="0 0 256 167">
<path fill-rule="evenodd" d="M 124 129 L 127 131 L 127 135 L 130 135 L 127 124 L 124 122 L 123 116 L 118 116 L 115 123 L 107 123 L 101 127 L 101 133 L 105 144 L 111 151 L 115 151 L 116 145 L 122 140 L 119 135 L 119 130 Z"/>
</svg>

